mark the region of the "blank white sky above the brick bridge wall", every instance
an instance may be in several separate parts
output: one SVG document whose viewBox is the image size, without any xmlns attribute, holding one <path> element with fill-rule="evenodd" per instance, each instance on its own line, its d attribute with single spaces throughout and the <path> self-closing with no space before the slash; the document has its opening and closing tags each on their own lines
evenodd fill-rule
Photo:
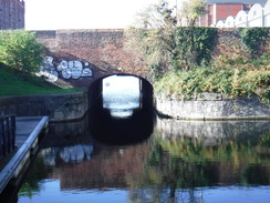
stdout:
<svg viewBox="0 0 270 203">
<path fill-rule="evenodd" d="M 24 1 L 27 30 L 126 28 L 134 22 L 137 12 L 158 2 L 158 0 Z"/>
</svg>

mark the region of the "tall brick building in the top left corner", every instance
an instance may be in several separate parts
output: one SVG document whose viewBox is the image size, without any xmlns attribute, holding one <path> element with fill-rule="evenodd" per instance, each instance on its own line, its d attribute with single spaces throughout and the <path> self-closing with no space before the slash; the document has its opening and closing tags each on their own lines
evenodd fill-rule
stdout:
<svg viewBox="0 0 270 203">
<path fill-rule="evenodd" d="M 0 0 L 0 30 L 24 28 L 24 1 Z"/>
</svg>

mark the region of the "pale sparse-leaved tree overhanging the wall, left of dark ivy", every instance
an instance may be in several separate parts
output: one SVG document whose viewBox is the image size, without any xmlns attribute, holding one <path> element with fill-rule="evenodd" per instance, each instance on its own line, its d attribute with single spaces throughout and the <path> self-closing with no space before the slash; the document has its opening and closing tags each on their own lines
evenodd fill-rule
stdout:
<svg viewBox="0 0 270 203">
<path fill-rule="evenodd" d="M 162 0 L 137 14 L 134 27 L 125 30 L 126 47 L 144 57 L 154 79 L 169 68 L 168 55 L 174 51 L 174 34 L 177 26 L 174 8 Z"/>
</svg>

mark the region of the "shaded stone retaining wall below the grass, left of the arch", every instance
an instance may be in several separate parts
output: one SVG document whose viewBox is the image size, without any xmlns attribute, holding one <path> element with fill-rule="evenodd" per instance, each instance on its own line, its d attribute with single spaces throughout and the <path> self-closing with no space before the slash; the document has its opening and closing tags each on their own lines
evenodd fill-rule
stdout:
<svg viewBox="0 0 270 203">
<path fill-rule="evenodd" d="M 81 119 L 87 110 L 89 97 L 86 92 L 0 98 L 0 114 L 49 115 L 49 120 L 55 122 Z"/>
</svg>

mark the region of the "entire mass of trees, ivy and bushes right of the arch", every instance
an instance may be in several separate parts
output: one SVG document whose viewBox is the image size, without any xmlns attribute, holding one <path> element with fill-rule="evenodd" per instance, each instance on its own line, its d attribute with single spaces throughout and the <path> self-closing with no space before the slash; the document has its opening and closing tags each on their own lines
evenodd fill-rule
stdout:
<svg viewBox="0 0 270 203">
<path fill-rule="evenodd" d="M 200 0 L 186 2 L 179 19 L 186 19 L 189 27 L 178 27 L 183 22 L 177 22 L 174 9 L 162 1 L 141 13 L 141 27 L 126 30 L 126 45 L 144 59 L 156 92 L 183 100 L 199 92 L 229 98 L 259 95 L 270 103 L 270 29 L 239 28 L 247 51 L 232 44 L 230 53 L 211 59 L 217 29 L 193 27 L 202 8 Z"/>
</svg>

